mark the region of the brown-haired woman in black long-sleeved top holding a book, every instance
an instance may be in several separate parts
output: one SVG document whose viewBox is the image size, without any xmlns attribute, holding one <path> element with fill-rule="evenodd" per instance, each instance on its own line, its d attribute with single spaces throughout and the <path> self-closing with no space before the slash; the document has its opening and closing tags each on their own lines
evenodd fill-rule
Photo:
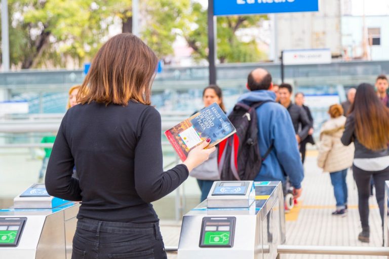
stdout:
<svg viewBox="0 0 389 259">
<path fill-rule="evenodd" d="M 50 195 L 82 201 L 72 258 L 166 258 L 150 202 L 176 189 L 215 148 L 209 140 L 163 171 L 161 115 L 150 106 L 155 54 L 123 33 L 97 52 L 81 105 L 62 119 L 50 157 Z M 71 177 L 77 165 L 79 180 Z"/>
</svg>

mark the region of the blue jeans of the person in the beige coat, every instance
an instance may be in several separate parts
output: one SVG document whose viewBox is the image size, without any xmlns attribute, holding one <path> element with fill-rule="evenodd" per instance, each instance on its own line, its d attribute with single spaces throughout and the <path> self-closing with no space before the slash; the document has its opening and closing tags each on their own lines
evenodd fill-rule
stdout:
<svg viewBox="0 0 389 259">
<path fill-rule="evenodd" d="M 334 195 L 336 200 L 336 209 L 343 209 L 347 204 L 347 169 L 336 172 L 331 172 L 331 183 L 334 187 Z"/>
</svg>

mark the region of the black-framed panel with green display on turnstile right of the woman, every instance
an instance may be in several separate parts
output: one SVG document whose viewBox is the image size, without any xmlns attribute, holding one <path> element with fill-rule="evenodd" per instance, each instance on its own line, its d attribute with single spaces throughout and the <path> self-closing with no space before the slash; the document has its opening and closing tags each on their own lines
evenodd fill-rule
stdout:
<svg viewBox="0 0 389 259">
<path fill-rule="evenodd" d="M 235 217 L 204 217 L 201 226 L 200 247 L 234 246 Z"/>
</svg>

